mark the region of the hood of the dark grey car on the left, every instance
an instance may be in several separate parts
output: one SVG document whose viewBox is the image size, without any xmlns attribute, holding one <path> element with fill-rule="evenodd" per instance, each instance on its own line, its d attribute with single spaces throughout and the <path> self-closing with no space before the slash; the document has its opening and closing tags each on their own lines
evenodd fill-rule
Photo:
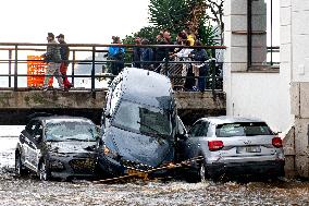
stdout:
<svg viewBox="0 0 309 206">
<path fill-rule="evenodd" d="M 53 153 L 89 153 L 94 152 L 96 142 L 67 141 L 67 142 L 51 142 L 50 152 Z"/>
</svg>

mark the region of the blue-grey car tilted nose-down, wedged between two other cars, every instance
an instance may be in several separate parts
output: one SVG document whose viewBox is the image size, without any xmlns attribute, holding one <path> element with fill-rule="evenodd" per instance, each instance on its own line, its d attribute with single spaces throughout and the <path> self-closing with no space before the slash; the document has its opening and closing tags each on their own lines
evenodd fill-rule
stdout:
<svg viewBox="0 0 309 206">
<path fill-rule="evenodd" d="M 174 162 L 177 120 L 166 76 L 124 69 L 107 95 L 98 165 L 112 177 L 166 174 L 169 170 L 161 168 Z"/>
</svg>

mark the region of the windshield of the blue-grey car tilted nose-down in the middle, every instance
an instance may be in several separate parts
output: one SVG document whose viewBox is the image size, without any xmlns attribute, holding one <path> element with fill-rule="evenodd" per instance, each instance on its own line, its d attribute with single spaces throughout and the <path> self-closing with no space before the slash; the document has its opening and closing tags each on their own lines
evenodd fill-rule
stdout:
<svg viewBox="0 0 309 206">
<path fill-rule="evenodd" d="M 121 102 L 113 125 L 140 134 L 169 136 L 172 133 L 168 111 L 126 100 Z"/>
</svg>

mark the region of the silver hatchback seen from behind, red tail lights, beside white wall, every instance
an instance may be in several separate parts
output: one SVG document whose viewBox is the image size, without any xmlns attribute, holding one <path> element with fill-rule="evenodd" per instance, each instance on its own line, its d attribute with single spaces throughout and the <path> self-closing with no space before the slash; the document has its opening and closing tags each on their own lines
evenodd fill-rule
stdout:
<svg viewBox="0 0 309 206">
<path fill-rule="evenodd" d="M 282 140 L 260 120 L 202 118 L 180 140 L 181 159 L 202 156 L 189 171 L 199 180 L 227 174 L 284 174 Z M 190 175 L 191 177 L 191 175 Z"/>
</svg>

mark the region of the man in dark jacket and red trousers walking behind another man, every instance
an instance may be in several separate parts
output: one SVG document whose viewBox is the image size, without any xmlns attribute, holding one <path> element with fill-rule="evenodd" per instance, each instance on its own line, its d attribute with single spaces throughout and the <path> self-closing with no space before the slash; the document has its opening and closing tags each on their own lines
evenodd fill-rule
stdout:
<svg viewBox="0 0 309 206">
<path fill-rule="evenodd" d="M 66 76 L 67 65 L 69 65 L 69 56 L 70 56 L 70 48 L 64 41 L 64 35 L 60 34 L 55 37 L 58 43 L 60 44 L 60 56 L 61 56 L 61 65 L 60 65 L 60 73 L 63 77 L 63 85 L 65 89 L 70 89 L 73 85 L 69 82 Z"/>
</svg>

